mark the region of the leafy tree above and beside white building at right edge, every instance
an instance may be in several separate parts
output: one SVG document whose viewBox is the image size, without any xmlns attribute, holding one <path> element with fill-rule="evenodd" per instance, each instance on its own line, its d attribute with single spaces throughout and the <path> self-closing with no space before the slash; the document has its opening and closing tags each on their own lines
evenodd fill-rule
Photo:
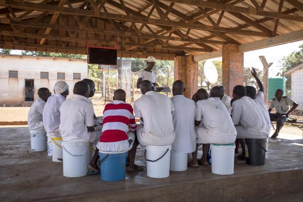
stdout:
<svg viewBox="0 0 303 202">
<path fill-rule="evenodd" d="M 299 50 L 294 51 L 288 56 L 284 56 L 280 61 L 281 70 L 286 72 L 303 63 L 303 44 L 299 45 Z M 286 94 L 290 94 L 291 91 L 291 76 L 285 75 L 286 77 Z"/>
</svg>

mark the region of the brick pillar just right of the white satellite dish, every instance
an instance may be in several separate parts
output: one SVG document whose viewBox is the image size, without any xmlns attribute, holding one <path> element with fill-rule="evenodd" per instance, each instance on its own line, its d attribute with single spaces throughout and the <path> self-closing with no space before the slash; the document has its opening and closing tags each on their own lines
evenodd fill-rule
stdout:
<svg viewBox="0 0 303 202">
<path fill-rule="evenodd" d="M 225 93 L 232 97 L 232 90 L 236 85 L 243 85 L 244 57 L 239 53 L 238 45 L 228 43 L 222 47 L 222 84 Z"/>
</svg>

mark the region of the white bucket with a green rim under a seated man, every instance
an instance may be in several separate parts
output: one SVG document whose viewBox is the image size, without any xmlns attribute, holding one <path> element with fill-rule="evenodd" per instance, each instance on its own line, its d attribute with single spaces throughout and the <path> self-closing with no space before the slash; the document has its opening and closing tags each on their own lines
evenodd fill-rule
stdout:
<svg viewBox="0 0 303 202">
<path fill-rule="evenodd" d="M 234 173 L 235 144 L 211 144 L 212 173 L 231 175 Z"/>
</svg>

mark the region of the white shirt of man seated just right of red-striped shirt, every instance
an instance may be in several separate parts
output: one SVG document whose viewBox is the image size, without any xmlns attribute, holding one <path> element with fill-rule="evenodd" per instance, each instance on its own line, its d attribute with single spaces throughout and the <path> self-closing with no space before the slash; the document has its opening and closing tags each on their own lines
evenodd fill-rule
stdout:
<svg viewBox="0 0 303 202">
<path fill-rule="evenodd" d="M 172 111 L 174 106 L 166 95 L 148 91 L 134 103 L 137 118 L 143 117 L 146 135 L 155 137 L 171 136 L 174 140 Z M 171 141 L 172 143 L 173 141 Z"/>
</svg>

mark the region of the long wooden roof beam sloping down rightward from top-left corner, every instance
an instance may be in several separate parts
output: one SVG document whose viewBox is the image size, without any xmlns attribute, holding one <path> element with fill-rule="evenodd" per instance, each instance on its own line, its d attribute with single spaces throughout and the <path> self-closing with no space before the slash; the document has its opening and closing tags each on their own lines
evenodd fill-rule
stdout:
<svg viewBox="0 0 303 202">
<path fill-rule="evenodd" d="M 66 0 L 62 0 L 62 1 L 66 1 Z M 105 13 L 105 12 L 100 12 L 100 13 L 98 13 L 98 15 L 95 15 L 94 11 L 86 11 L 86 10 L 80 10 L 80 9 L 59 7 L 59 6 L 42 5 L 42 4 L 29 3 L 29 2 L 15 2 L 13 0 L 10 0 L 10 1 L 0 0 L 0 5 L 6 5 L 6 6 L 18 7 L 18 8 L 24 8 L 24 9 L 49 11 L 49 12 L 55 12 L 55 13 L 63 13 L 63 14 L 68 14 L 68 15 L 83 15 L 83 16 L 90 16 L 90 17 L 95 17 L 95 18 L 105 18 L 105 19 L 112 19 L 112 20 L 119 20 L 119 21 L 129 21 L 129 22 L 138 22 L 138 23 L 173 26 L 173 27 L 184 27 L 184 28 L 190 28 L 190 29 L 242 34 L 242 35 L 249 35 L 249 36 L 262 36 L 262 37 L 270 36 L 268 33 L 264 33 L 264 32 L 239 30 L 239 29 L 225 28 L 225 27 L 214 27 L 214 26 L 196 24 L 196 23 L 183 23 L 183 22 L 174 22 L 174 21 L 167 21 L 167 20 L 157 20 L 157 19 L 152 19 L 152 18 L 146 19 L 143 17 L 125 16 L 125 15 Z M 58 12 L 58 11 L 60 11 L 60 12 Z M 54 17 L 54 19 L 55 18 L 56 18 L 56 16 Z M 302 21 L 303 21 L 303 18 L 302 18 Z M 51 21 L 51 22 L 53 22 L 53 21 Z M 50 24 L 52 24 L 52 23 L 50 23 Z M 50 29 L 47 29 L 47 30 L 50 30 Z"/>
</svg>

